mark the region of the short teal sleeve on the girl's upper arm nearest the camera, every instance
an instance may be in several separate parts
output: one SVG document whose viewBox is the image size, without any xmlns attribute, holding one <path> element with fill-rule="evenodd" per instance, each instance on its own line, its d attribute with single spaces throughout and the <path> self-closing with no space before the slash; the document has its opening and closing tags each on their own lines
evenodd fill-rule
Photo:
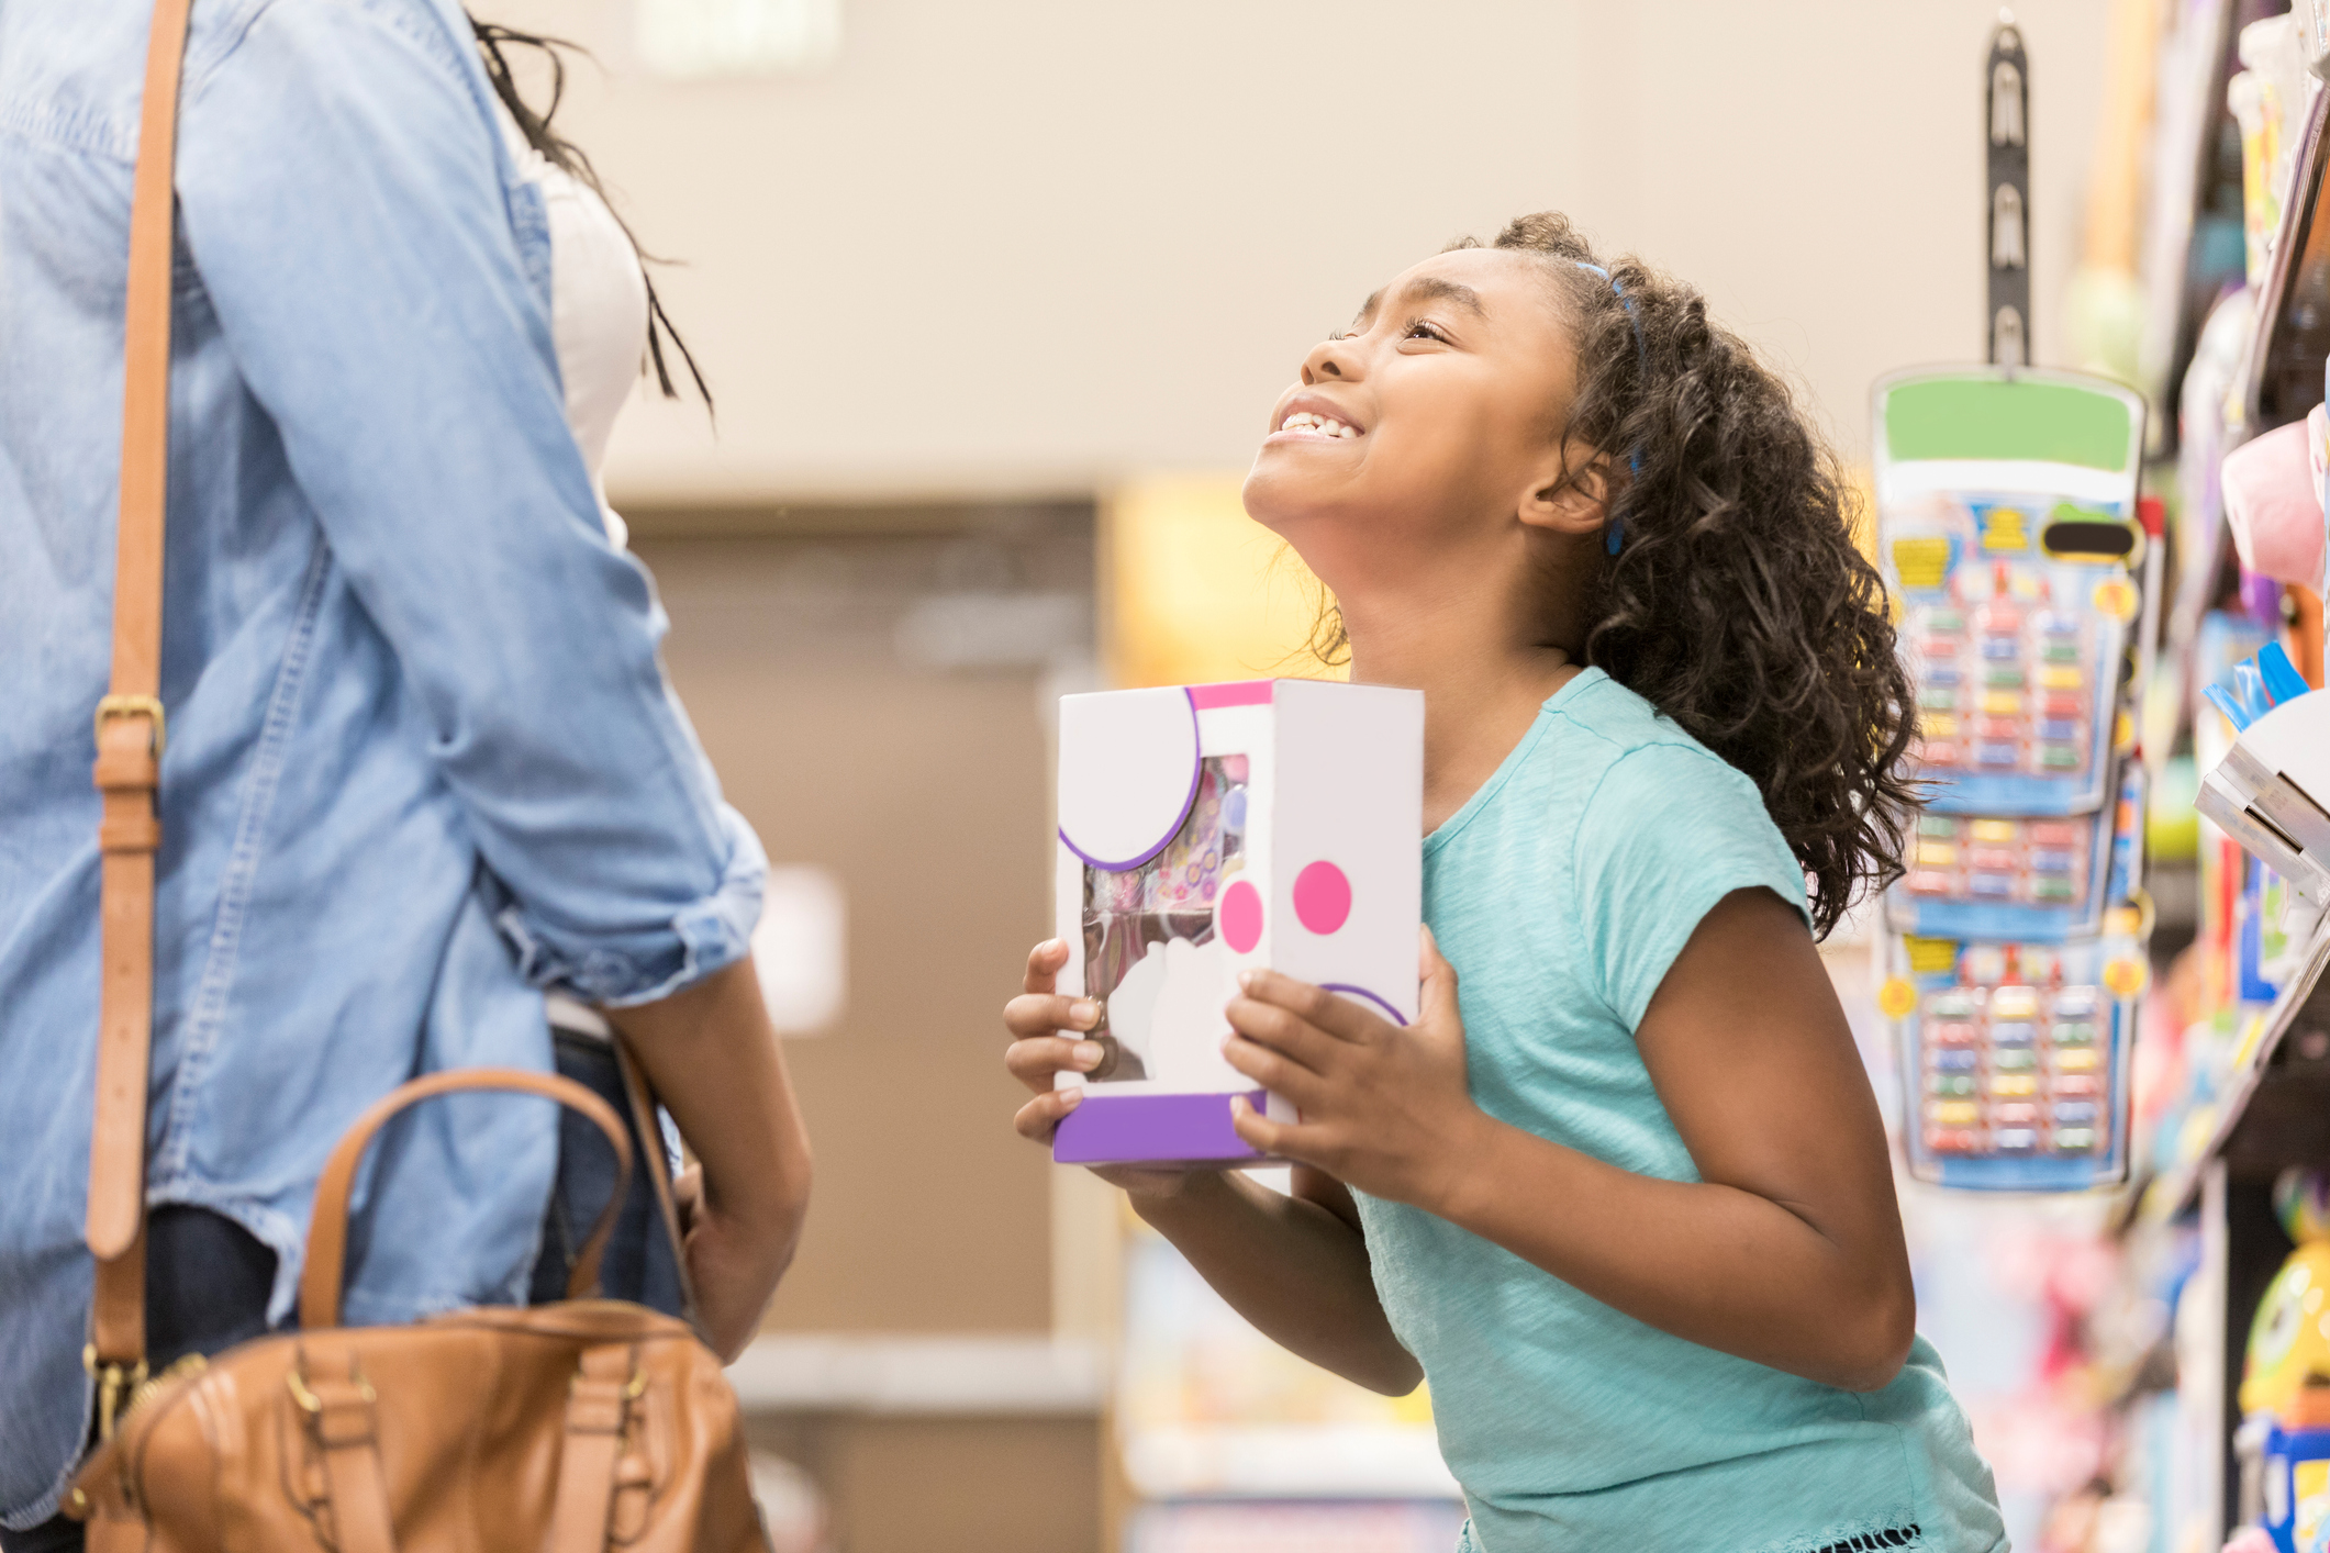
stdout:
<svg viewBox="0 0 2330 1553">
<path fill-rule="evenodd" d="M 1803 868 L 1754 782 L 1680 733 L 1610 759 L 1573 836 L 1591 987 L 1626 1029 L 1727 894 L 1761 885 L 1803 910 Z"/>
</svg>

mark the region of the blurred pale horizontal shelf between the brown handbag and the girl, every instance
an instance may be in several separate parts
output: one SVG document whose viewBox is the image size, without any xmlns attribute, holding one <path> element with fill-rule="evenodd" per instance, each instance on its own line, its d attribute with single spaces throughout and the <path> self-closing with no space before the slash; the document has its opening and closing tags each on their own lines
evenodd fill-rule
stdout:
<svg viewBox="0 0 2330 1553">
<path fill-rule="evenodd" d="M 748 1413 L 1095 1418 L 1097 1343 L 1046 1336 L 762 1336 L 729 1364 Z"/>
</svg>

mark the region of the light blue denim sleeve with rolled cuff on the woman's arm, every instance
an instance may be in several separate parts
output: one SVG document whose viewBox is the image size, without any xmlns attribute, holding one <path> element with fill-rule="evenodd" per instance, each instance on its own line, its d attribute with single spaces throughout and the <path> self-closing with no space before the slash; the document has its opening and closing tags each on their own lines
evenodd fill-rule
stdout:
<svg viewBox="0 0 2330 1553">
<path fill-rule="evenodd" d="M 438 0 L 275 0 L 189 61 L 182 235 L 524 976 L 634 1004 L 746 952 L 767 861 L 599 526 L 473 51 Z"/>
</svg>

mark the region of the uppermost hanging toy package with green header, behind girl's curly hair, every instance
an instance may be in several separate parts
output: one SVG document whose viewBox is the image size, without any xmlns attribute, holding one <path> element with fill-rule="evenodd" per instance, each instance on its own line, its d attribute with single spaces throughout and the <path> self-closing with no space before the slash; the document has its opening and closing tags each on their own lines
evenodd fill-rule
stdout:
<svg viewBox="0 0 2330 1553">
<path fill-rule="evenodd" d="M 2071 373 L 1901 373 L 1878 382 L 1873 428 L 1927 808 L 2092 815 L 2130 736 L 2144 400 Z"/>
</svg>

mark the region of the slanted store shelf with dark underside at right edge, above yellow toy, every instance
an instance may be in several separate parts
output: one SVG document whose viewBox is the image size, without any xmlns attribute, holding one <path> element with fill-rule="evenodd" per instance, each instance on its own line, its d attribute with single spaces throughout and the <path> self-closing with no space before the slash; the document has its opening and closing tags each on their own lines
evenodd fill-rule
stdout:
<svg viewBox="0 0 2330 1553">
<path fill-rule="evenodd" d="M 2148 1215 L 2172 1218 L 2200 1197 L 2200 1178 L 2223 1160 L 2237 1180 L 2269 1178 L 2290 1164 L 2330 1162 L 2330 922 L 2316 929 L 2295 976 L 2267 1010 L 2216 1099 L 2209 1143 L 2153 1180 Z M 2307 1038 L 2290 1041 L 2293 1031 Z M 2325 1038 L 2311 1038 L 2325 1036 Z"/>
</svg>

